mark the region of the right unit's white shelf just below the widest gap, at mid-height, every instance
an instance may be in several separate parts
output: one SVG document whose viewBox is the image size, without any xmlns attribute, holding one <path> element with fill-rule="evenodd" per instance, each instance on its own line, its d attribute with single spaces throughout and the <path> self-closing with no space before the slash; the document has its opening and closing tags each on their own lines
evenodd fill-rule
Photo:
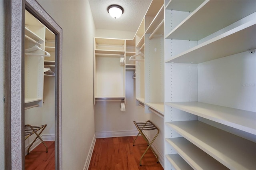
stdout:
<svg viewBox="0 0 256 170">
<path fill-rule="evenodd" d="M 256 134 L 255 112 L 202 102 L 173 102 L 165 104 L 223 125 Z"/>
</svg>

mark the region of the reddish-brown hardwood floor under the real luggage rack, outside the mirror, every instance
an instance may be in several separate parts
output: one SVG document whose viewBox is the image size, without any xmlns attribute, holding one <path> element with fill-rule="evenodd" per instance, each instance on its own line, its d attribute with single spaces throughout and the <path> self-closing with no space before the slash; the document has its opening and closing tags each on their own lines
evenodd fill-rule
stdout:
<svg viewBox="0 0 256 170">
<path fill-rule="evenodd" d="M 148 145 L 139 136 L 133 146 L 135 137 L 96 139 L 89 170 L 163 170 L 151 149 L 142 158 L 140 166 L 140 157 Z"/>
</svg>

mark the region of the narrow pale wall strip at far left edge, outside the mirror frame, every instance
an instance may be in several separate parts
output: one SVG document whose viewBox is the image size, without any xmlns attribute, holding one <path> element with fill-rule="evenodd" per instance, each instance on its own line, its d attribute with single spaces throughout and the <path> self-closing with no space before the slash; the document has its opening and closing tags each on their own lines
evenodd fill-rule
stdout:
<svg viewBox="0 0 256 170">
<path fill-rule="evenodd" d="M 0 170 L 4 169 L 4 0 L 0 0 Z"/>
</svg>

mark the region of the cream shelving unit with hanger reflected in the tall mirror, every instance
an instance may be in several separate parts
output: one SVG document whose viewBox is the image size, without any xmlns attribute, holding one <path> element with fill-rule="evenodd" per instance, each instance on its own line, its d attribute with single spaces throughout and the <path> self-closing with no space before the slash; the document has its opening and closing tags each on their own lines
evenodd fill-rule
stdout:
<svg viewBox="0 0 256 170">
<path fill-rule="evenodd" d="M 40 45 L 44 49 L 45 26 L 39 22 L 28 11 L 25 12 L 25 49 L 34 45 Z M 36 43 L 38 42 L 38 43 Z M 42 51 L 36 50 L 32 53 L 43 54 Z M 26 108 L 42 107 L 43 88 L 44 88 L 44 57 L 37 55 L 26 55 L 24 58 L 24 86 Z"/>
</svg>

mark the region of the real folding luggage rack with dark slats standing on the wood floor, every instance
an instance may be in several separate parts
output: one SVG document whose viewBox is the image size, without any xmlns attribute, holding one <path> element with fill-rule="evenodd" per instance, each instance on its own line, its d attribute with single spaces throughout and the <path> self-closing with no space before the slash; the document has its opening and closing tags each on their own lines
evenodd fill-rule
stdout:
<svg viewBox="0 0 256 170">
<path fill-rule="evenodd" d="M 154 155 L 156 156 L 157 159 L 157 163 L 159 162 L 158 160 L 158 155 L 156 154 L 156 152 L 154 151 L 154 149 L 151 147 L 152 143 L 154 142 L 154 140 L 156 139 L 156 136 L 158 136 L 159 134 L 159 129 L 151 122 L 151 121 L 146 121 L 146 122 L 136 122 L 133 121 L 134 125 L 136 126 L 136 128 L 138 129 L 139 133 L 137 134 L 136 138 L 133 141 L 133 146 L 134 146 L 134 142 L 135 140 L 138 138 L 139 134 L 141 134 L 141 136 L 146 140 L 146 142 L 148 143 L 148 148 L 145 150 L 145 152 L 142 154 L 141 158 L 140 158 L 140 166 L 141 166 L 141 160 L 143 158 L 143 156 L 146 154 L 146 152 L 148 151 L 149 148 L 151 148 L 152 152 L 154 153 Z M 142 130 L 157 130 L 156 135 L 154 136 L 153 140 L 151 140 L 151 142 L 148 141 L 148 139 L 146 138 L 145 134 L 142 132 Z"/>
</svg>

